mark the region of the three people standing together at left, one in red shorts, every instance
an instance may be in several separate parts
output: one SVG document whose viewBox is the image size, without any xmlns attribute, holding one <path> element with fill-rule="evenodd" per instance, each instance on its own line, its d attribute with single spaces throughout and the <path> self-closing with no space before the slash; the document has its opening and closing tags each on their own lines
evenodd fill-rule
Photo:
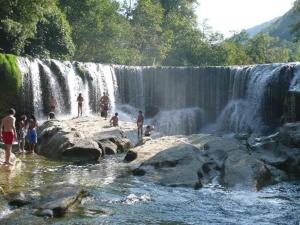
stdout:
<svg viewBox="0 0 300 225">
<path fill-rule="evenodd" d="M 11 108 L 8 115 L 1 120 L 0 138 L 5 145 L 5 161 L 1 162 L 5 165 L 12 165 L 10 162 L 10 154 L 14 141 L 18 140 L 19 153 L 25 152 L 25 145 L 28 143 L 28 152 L 33 153 L 37 143 L 37 120 L 34 115 L 27 118 L 22 115 L 16 129 L 16 111 Z"/>
</svg>

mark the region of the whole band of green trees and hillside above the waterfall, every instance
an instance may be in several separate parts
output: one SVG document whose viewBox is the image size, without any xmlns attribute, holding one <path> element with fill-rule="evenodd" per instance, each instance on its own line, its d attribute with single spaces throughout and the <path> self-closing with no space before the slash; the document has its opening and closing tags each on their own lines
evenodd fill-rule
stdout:
<svg viewBox="0 0 300 225">
<path fill-rule="evenodd" d="M 293 17 L 287 13 L 265 32 L 249 37 L 242 31 L 227 40 L 207 25 L 199 27 L 197 0 L 119 2 L 0 0 L 0 50 L 125 65 L 216 66 L 300 60 L 300 48 L 294 42 L 297 30 L 282 29 L 299 17 L 298 2 Z"/>
</svg>

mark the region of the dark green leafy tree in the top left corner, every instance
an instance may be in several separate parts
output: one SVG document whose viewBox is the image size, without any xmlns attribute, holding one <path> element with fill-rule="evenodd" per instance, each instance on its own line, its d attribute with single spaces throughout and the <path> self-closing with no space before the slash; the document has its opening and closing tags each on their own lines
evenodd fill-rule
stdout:
<svg viewBox="0 0 300 225">
<path fill-rule="evenodd" d="M 5 53 L 71 56 L 70 33 L 55 0 L 0 0 L 0 48 Z"/>
</svg>

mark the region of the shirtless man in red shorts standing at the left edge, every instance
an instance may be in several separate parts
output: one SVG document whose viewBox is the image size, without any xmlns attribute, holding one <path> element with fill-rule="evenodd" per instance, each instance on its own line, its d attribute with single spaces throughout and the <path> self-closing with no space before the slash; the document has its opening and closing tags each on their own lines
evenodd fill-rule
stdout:
<svg viewBox="0 0 300 225">
<path fill-rule="evenodd" d="M 16 133 L 16 118 L 14 117 L 16 111 L 14 109 L 10 109 L 8 111 L 8 116 L 4 117 L 1 121 L 0 127 L 0 135 L 1 139 L 5 144 L 5 162 L 6 165 L 12 165 L 10 162 L 10 153 L 13 141 L 16 140 L 17 133 Z"/>
</svg>

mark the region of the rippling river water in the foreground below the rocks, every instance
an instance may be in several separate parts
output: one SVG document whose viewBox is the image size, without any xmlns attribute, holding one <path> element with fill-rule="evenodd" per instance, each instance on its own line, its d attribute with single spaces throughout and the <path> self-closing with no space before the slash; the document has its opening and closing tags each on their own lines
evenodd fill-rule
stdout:
<svg viewBox="0 0 300 225">
<path fill-rule="evenodd" d="M 6 191 L 30 190 L 45 184 L 82 185 L 92 197 L 83 207 L 49 224 L 299 224 L 300 185 L 281 183 L 260 192 L 228 191 L 207 186 L 195 191 L 153 184 L 128 176 L 120 157 L 97 165 L 69 165 L 39 156 L 21 157 L 15 174 L 0 174 Z M 7 207 L 1 215 L 9 214 Z M 1 221 L 0 221 L 1 224 Z"/>
</svg>

